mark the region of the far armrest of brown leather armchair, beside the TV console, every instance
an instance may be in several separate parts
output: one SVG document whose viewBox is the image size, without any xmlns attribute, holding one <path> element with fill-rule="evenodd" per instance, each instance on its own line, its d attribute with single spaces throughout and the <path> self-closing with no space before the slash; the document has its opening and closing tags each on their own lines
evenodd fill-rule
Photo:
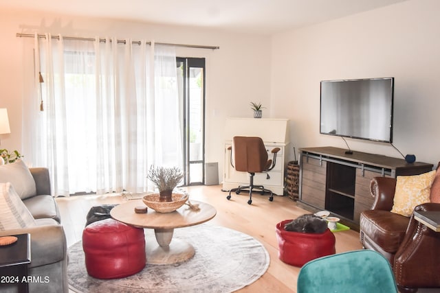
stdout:
<svg viewBox="0 0 440 293">
<path fill-rule="evenodd" d="M 370 192 L 374 198 L 371 209 L 391 211 L 393 209 L 396 179 L 375 177 L 371 179 Z"/>
</svg>

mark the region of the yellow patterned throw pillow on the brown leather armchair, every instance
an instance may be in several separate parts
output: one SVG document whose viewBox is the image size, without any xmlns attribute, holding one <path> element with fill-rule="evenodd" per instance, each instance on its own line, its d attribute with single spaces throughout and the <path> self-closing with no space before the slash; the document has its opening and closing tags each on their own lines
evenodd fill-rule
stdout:
<svg viewBox="0 0 440 293">
<path fill-rule="evenodd" d="M 414 208 L 430 202 L 430 190 L 435 170 L 413 176 L 397 176 L 394 205 L 391 212 L 409 217 Z"/>
</svg>

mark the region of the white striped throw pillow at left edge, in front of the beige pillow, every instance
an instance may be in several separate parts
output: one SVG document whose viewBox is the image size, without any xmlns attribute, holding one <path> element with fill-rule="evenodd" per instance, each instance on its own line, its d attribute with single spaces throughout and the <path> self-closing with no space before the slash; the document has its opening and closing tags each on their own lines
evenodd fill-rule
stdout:
<svg viewBox="0 0 440 293">
<path fill-rule="evenodd" d="M 35 226 L 36 222 L 28 208 L 10 183 L 0 183 L 0 230 Z"/>
</svg>

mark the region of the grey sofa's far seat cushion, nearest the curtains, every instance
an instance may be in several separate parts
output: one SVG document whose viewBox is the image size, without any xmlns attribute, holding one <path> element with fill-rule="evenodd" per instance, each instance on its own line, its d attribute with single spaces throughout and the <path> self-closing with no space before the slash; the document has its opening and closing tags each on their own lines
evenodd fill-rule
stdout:
<svg viewBox="0 0 440 293">
<path fill-rule="evenodd" d="M 26 198 L 23 203 L 28 207 L 35 219 L 50 218 L 61 222 L 58 206 L 52 196 L 33 196 Z"/>
</svg>

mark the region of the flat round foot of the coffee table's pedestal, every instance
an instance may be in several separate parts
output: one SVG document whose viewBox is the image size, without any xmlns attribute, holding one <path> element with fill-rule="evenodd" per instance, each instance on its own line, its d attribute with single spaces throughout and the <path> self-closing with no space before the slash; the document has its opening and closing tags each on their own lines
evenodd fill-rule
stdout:
<svg viewBox="0 0 440 293">
<path fill-rule="evenodd" d="M 186 261 L 195 255 L 195 249 L 188 242 L 173 238 L 168 247 L 146 239 L 146 263 L 148 264 L 173 264 Z"/>
</svg>

